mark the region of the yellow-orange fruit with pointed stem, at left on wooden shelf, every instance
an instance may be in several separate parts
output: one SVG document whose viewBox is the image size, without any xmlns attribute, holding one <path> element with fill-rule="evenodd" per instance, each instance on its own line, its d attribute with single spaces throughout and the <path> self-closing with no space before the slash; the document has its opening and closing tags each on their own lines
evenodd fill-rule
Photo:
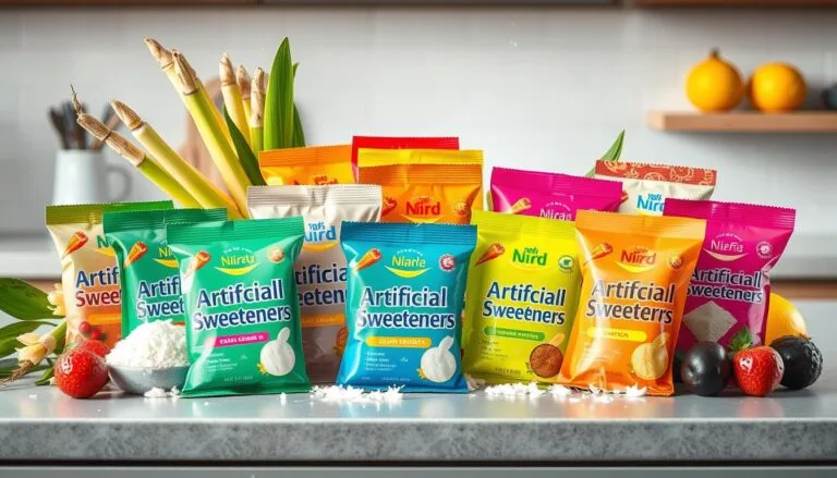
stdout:
<svg viewBox="0 0 837 478">
<path fill-rule="evenodd" d="M 728 111 L 741 102 L 744 85 L 738 69 L 715 49 L 689 72 L 686 96 L 701 111 Z"/>
</svg>

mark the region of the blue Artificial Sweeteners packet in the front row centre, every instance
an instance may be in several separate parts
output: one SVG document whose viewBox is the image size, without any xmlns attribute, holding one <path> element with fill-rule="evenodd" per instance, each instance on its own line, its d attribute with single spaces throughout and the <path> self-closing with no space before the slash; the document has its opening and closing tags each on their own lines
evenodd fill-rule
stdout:
<svg viewBox="0 0 837 478">
<path fill-rule="evenodd" d="M 460 339 L 473 225 L 344 222 L 349 339 L 337 382 L 468 392 Z"/>
</svg>

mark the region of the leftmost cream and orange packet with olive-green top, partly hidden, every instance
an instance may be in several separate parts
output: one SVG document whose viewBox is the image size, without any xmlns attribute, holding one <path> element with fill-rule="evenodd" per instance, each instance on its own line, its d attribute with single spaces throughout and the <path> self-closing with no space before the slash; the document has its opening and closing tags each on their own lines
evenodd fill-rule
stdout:
<svg viewBox="0 0 837 478">
<path fill-rule="evenodd" d="M 61 259 L 66 343 L 88 336 L 112 347 L 122 335 L 119 268 L 102 231 L 102 213 L 172 207 L 170 200 L 47 206 L 47 229 Z"/>
</svg>

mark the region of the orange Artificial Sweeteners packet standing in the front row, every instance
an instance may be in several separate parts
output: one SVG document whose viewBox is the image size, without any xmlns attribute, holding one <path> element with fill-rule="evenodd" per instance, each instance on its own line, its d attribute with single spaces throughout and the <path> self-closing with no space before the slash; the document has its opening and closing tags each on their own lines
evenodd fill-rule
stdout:
<svg viewBox="0 0 837 478">
<path fill-rule="evenodd" d="M 671 395 L 675 344 L 706 222 L 579 211 L 575 228 L 582 287 L 558 382 Z"/>
</svg>

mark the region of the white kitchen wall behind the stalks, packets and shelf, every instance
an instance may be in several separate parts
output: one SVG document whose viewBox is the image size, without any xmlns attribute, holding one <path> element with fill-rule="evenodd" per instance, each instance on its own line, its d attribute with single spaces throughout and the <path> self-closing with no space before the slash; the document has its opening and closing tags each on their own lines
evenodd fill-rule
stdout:
<svg viewBox="0 0 837 478">
<path fill-rule="evenodd" d="M 644 124 L 650 108 L 688 108 L 682 77 L 712 46 L 745 72 L 787 60 L 817 86 L 837 81 L 837 12 L 376 8 L 0 10 L 0 232 L 43 230 L 46 112 L 71 82 L 95 112 L 119 98 L 179 143 L 184 112 L 143 38 L 207 77 L 223 51 L 268 68 L 283 36 L 310 143 L 459 134 L 489 166 L 583 173 L 626 127 L 627 158 L 717 168 L 716 198 L 792 205 L 802 234 L 837 233 L 835 135 Z"/>
</svg>

